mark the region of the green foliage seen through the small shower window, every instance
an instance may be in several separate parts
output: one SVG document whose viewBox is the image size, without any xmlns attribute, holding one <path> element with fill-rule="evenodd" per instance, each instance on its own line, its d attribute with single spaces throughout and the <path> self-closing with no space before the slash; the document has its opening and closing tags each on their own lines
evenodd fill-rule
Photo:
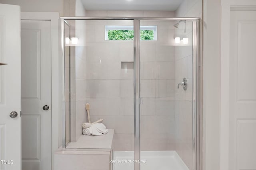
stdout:
<svg viewBox="0 0 256 170">
<path fill-rule="evenodd" d="M 133 30 L 108 30 L 108 40 L 133 40 Z M 154 40 L 153 30 L 140 30 L 140 40 Z"/>
</svg>

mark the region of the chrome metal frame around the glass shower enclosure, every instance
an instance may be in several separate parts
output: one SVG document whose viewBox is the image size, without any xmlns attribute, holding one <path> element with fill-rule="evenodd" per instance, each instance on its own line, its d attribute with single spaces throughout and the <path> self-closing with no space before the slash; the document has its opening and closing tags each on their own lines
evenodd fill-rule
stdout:
<svg viewBox="0 0 256 170">
<path fill-rule="evenodd" d="M 140 20 L 192 21 L 193 23 L 193 170 L 202 170 L 202 105 L 201 105 L 201 36 L 200 18 L 158 18 L 158 17 L 60 17 L 62 71 L 64 74 L 64 23 L 65 20 L 133 20 L 134 21 L 134 160 L 140 159 Z M 65 75 L 63 75 L 65 77 Z M 65 88 L 64 88 L 65 89 Z M 65 90 L 64 90 L 65 92 Z M 65 94 L 64 94 L 65 96 Z M 65 104 L 65 102 L 64 102 Z M 65 107 L 64 107 L 65 108 Z M 65 111 L 62 115 L 62 147 L 66 149 Z M 140 163 L 134 163 L 134 170 L 140 170 Z"/>
</svg>

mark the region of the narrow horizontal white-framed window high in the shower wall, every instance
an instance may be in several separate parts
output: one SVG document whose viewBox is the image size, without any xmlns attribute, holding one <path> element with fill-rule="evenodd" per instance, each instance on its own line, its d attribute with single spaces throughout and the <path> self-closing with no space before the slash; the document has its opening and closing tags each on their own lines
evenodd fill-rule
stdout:
<svg viewBox="0 0 256 170">
<path fill-rule="evenodd" d="M 156 41 L 157 26 L 140 26 L 140 40 Z M 134 31 L 132 25 L 106 25 L 105 40 L 133 40 Z"/>
</svg>

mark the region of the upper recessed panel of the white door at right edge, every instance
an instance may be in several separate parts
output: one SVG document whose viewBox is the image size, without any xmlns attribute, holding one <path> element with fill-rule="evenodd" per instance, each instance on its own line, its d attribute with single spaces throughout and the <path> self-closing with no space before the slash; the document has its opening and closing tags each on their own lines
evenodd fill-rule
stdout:
<svg viewBox="0 0 256 170">
<path fill-rule="evenodd" d="M 255 20 L 237 20 L 237 50 L 238 55 L 236 56 L 236 92 L 237 101 L 256 101 L 256 88 L 250 88 L 247 83 L 256 84 L 254 79 L 254 63 L 256 58 L 253 57 L 250 52 L 255 49 L 253 32 L 256 30 L 256 18 Z M 250 33 L 250 34 L 248 34 Z M 255 37 L 256 37 L 256 33 Z M 255 50 L 256 53 L 256 50 Z M 250 88 L 250 91 L 248 91 Z"/>
</svg>

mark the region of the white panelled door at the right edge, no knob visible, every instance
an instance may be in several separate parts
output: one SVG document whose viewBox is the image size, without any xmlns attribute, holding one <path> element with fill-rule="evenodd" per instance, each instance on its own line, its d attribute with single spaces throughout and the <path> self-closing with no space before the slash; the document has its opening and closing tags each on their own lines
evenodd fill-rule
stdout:
<svg viewBox="0 0 256 170">
<path fill-rule="evenodd" d="M 230 12 L 230 170 L 256 170 L 256 11 Z"/>
</svg>

